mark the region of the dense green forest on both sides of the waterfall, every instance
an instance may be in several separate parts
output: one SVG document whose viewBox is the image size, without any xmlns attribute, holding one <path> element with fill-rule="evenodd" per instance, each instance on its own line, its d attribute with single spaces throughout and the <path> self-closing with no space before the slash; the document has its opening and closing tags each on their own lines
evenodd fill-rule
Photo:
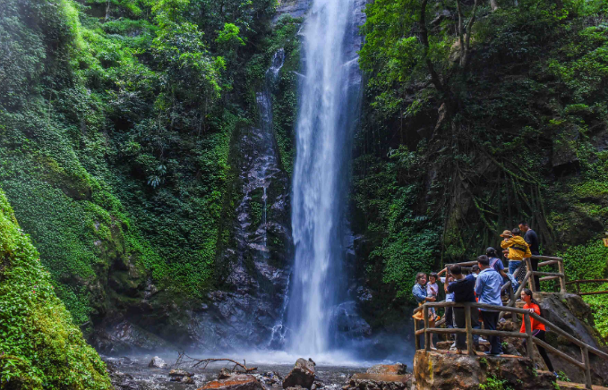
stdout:
<svg viewBox="0 0 608 390">
<path fill-rule="evenodd" d="M 48 383 L 73 372 L 28 348 L 68 340 L 74 352 L 53 359 L 99 373 L 81 332 L 103 349 L 99 332 L 135 316 L 147 337 L 185 343 L 192 310 L 233 288 L 239 139 L 258 123 L 256 91 L 279 48 L 273 131 L 287 177 L 295 158 L 302 19 L 278 17 L 280 5 L 0 4 L 3 376 L 17 367 L 30 388 L 67 388 Z M 604 278 L 608 4 L 375 0 L 365 13 L 348 207 L 370 325 L 409 312 L 416 272 L 475 259 L 523 220 L 569 278 Z M 273 240 L 284 253 L 272 261 L 288 267 L 289 244 Z M 11 287 L 30 284 L 37 295 Z M 608 335 L 608 301 L 586 301 Z M 29 308 L 20 323 L 6 316 L 15 304 Z M 60 336 L 18 341 L 56 308 Z M 95 375 L 78 380 L 105 388 Z"/>
</svg>

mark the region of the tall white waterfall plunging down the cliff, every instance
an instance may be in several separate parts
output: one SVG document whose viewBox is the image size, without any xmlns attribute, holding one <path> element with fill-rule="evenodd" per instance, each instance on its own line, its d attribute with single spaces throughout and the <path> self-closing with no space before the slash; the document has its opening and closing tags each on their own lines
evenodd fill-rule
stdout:
<svg viewBox="0 0 608 390">
<path fill-rule="evenodd" d="M 295 262 L 287 313 L 287 348 L 295 353 L 335 346 L 332 317 L 347 300 L 346 192 L 359 108 L 356 51 L 363 4 L 314 0 L 303 29 L 292 201 Z"/>
</svg>

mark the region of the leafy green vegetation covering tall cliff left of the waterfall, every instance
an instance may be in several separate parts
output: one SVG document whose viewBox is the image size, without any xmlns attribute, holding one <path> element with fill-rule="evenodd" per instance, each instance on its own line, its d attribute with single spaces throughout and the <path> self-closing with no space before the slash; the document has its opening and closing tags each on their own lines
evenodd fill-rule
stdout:
<svg viewBox="0 0 608 390">
<path fill-rule="evenodd" d="M 273 50 L 298 63 L 299 21 L 271 30 L 275 5 L 0 5 L 0 185 L 77 324 L 125 309 L 148 281 L 186 304 L 218 286 L 233 139 L 257 122 Z M 294 77 L 277 97 L 286 166 Z"/>
</svg>

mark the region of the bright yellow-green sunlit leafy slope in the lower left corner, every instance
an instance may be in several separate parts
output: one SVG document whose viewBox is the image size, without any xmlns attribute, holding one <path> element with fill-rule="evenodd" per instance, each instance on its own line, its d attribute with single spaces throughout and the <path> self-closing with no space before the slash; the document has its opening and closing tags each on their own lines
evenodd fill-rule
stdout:
<svg viewBox="0 0 608 390">
<path fill-rule="evenodd" d="M 0 388 L 111 389 L 0 191 Z"/>
</svg>

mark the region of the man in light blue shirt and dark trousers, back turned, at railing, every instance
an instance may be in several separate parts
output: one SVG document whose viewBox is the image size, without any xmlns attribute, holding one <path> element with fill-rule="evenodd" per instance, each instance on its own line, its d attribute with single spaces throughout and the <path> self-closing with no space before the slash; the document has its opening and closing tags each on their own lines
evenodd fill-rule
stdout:
<svg viewBox="0 0 608 390">
<path fill-rule="evenodd" d="M 482 270 L 482 272 L 479 273 L 479 276 L 477 276 L 477 282 L 475 284 L 475 293 L 479 297 L 479 303 L 502 306 L 502 276 L 490 266 L 490 259 L 485 255 L 477 258 L 477 265 Z M 481 314 L 485 328 L 488 330 L 496 330 L 498 316 L 500 314 L 499 311 L 481 309 Z M 490 352 L 486 352 L 486 354 L 500 355 L 502 353 L 501 340 L 498 336 L 490 337 L 490 345 Z"/>
</svg>

